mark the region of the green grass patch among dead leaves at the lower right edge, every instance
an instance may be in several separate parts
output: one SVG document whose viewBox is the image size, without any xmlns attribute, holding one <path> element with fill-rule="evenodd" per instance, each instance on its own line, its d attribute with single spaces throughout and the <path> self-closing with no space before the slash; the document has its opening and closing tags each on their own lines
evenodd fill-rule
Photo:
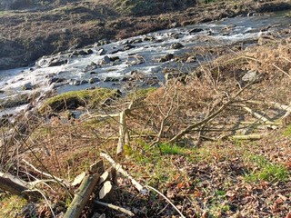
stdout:
<svg viewBox="0 0 291 218">
<path fill-rule="evenodd" d="M 289 178 L 288 170 L 284 165 L 270 163 L 264 156 L 250 155 L 247 162 L 253 163 L 258 167 L 255 172 L 245 175 L 247 182 L 286 182 Z"/>
</svg>

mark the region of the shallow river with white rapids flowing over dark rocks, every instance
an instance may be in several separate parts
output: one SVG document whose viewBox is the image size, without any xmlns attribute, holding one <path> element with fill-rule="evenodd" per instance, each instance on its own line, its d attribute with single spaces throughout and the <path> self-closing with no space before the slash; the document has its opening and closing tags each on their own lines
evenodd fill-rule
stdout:
<svg viewBox="0 0 291 218">
<path fill-rule="evenodd" d="M 194 55 L 197 46 L 216 47 L 241 42 L 246 47 L 256 44 L 261 35 L 288 36 L 278 33 L 290 24 L 291 18 L 283 13 L 227 18 L 45 56 L 32 67 L 0 71 L 0 104 L 3 107 L 0 116 L 24 110 L 28 104 L 21 97 L 35 93 L 54 90 L 60 94 L 93 87 L 125 91 L 157 86 L 165 83 L 166 69 L 188 73 L 206 61 L 205 57 Z M 183 54 L 189 54 L 192 60 L 177 61 L 176 57 Z M 7 104 L 9 101 L 15 104 Z"/>
</svg>

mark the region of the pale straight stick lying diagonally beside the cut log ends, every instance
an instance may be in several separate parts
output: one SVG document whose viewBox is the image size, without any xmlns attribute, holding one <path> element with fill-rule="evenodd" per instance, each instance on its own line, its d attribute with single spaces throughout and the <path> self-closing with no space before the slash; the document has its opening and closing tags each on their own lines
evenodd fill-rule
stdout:
<svg viewBox="0 0 291 218">
<path fill-rule="evenodd" d="M 135 188 L 142 193 L 143 195 L 146 195 L 146 193 L 148 193 L 148 190 L 141 185 L 140 183 L 138 183 L 133 176 L 131 176 L 129 173 L 127 173 L 123 168 L 122 165 L 119 163 L 115 163 L 115 161 L 108 155 L 105 153 L 101 153 L 100 156 L 104 157 L 109 163 L 112 164 L 113 167 L 115 167 L 116 171 L 119 173 L 122 173 L 125 177 L 127 177 L 128 179 L 130 179 L 131 183 L 133 185 L 135 185 Z"/>
</svg>

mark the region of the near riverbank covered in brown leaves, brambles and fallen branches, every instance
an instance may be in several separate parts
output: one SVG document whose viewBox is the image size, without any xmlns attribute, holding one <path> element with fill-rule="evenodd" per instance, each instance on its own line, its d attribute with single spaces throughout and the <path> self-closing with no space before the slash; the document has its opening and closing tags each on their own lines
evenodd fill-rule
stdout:
<svg viewBox="0 0 291 218">
<path fill-rule="evenodd" d="M 76 190 L 71 185 L 75 176 L 86 172 L 102 152 L 139 183 L 164 193 L 186 217 L 289 218 L 291 39 L 265 43 L 201 64 L 183 83 L 174 79 L 125 96 L 95 89 L 49 99 L 44 108 L 54 114 L 45 119 L 25 114 L 10 126 L 15 134 L 4 144 L 9 149 L 2 153 L 3 168 L 20 172 L 18 177 L 27 181 L 43 179 L 26 164 L 29 160 L 62 178 L 67 190 Z M 86 111 L 82 117 L 75 118 L 68 108 L 73 98 Z M 93 103 L 95 111 L 90 111 Z M 123 111 L 130 138 L 124 153 L 116 155 L 124 124 L 115 114 Z M 2 130 L 8 134 L 7 127 Z M 155 192 L 142 195 L 126 177 L 118 175 L 112 184 L 111 203 L 135 217 L 178 217 L 164 198 Z M 38 186 L 45 201 L 1 194 L 0 215 L 51 217 L 53 211 L 62 217 L 71 199 L 64 186 L 49 185 Z M 123 216 L 94 201 L 82 214 Z"/>
</svg>

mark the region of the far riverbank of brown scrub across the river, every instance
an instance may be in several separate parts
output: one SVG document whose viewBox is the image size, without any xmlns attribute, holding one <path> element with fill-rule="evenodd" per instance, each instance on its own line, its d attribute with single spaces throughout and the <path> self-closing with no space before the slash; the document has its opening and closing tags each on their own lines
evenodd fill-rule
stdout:
<svg viewBox="0 0 291 218">
<path fill-rule="evenodd" d="M 99 40 L 126 38 L 176 26 L 219 20 L 236 15 L 290 9 L 288 1 L 239 1 L 196 5 L 161 15 L 121 15 L 110 4 L 83 2 L 34 11 L 0 13 L 0 69 L 33 64 L 45 54 Z"/>
</svg>

